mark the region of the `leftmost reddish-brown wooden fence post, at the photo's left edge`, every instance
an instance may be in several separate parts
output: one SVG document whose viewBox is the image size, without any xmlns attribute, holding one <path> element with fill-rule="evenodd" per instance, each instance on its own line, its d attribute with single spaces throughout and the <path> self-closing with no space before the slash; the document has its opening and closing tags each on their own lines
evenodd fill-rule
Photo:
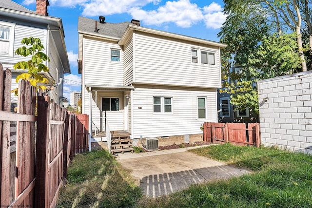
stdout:
<svg viewBox="0 0 312 208">
<path fill-rule="evenodd" d="M 11 110 L 11 70 L 0 64 L 0 110 Z M 2 125 L 3 124 L 3 125 Z M 1 130 L 3 130 L 1 132 Z M 10 121 L 0 121 L 0 205 L 10 205 Z"/>
</svg>

